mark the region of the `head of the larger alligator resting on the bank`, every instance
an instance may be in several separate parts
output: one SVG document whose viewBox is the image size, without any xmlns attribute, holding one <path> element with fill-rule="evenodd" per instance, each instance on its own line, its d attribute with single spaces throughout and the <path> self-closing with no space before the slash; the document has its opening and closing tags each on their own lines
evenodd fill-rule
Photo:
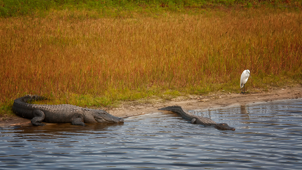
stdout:
<svg viewBox="0 0 302 170">
<path fill-rule="evenodd" d="M 97 110 L 97 109 L 90 109 L 90 110 L 93 112 L 93 114 L 92 114 L 93 118 L 98 123 L 105 123 L 105 122 L 120 123 L 120 122 L 124 122 L 123 118 L 112 116 L 111 114 L 109 114 L 106 111 Z"/>
</svg>

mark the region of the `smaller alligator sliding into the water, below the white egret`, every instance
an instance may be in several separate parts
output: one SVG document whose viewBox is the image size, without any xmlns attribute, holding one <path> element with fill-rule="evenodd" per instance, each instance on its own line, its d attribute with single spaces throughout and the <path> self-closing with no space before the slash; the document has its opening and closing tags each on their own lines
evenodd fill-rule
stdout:
<svg viewBox="0 0 302 170">
<path fill-rule="evenodd" d="M 183 118 L 190 120 L 190 123 L 192 123 L 192 124 L 202 124 L 202 125 L 206 125 L 206 126 L 214 126 L 215 128 L 217 128 L 219 130 L 235 130 L 235 128 L 230 127 L 226 123 L 216 123 L 210 118 L 191 114 L 190 112 L 183 110 L 181 106 L 167 106 L 167 107 L 162 107 L 158 110 L 172 111 L 172 112 L 181 114 Z"/>
</svg>

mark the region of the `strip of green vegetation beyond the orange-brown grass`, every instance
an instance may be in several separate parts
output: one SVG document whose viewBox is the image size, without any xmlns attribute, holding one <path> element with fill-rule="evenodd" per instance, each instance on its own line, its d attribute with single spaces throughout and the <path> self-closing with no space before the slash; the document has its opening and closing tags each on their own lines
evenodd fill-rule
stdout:
<svg viewBox="0 0 302 170">
<path fill-rule="evenodd" d="M 85 11 L 81 17 L 124 17 L 133 13 L 190 12 L 196 9 L 301 8 L 301 1 L 252 0 L 1 0 L 0 16 L 45 16 L 53 11 Z M 72 12 L 72 15 L 75 14 Z"/>
</svg>

